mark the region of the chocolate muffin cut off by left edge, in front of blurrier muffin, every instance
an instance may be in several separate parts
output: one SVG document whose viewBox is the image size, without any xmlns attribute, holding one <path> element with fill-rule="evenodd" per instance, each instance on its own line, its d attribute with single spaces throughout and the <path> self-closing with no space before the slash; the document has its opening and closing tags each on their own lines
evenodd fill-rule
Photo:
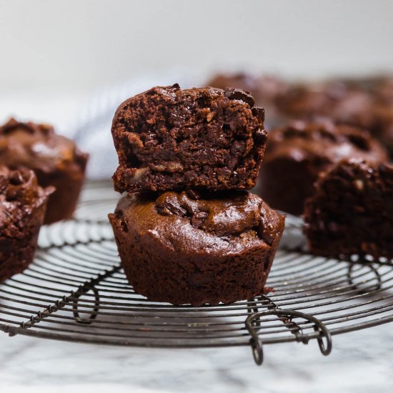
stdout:
<svg viewBox="0 0 393 393">
<path fill-rule="evenodd" d="M 21 273 L 33 261 L 53 187 L 42 189 L 29 169 L 0 166 L 0 282 Z"/>
</svg>

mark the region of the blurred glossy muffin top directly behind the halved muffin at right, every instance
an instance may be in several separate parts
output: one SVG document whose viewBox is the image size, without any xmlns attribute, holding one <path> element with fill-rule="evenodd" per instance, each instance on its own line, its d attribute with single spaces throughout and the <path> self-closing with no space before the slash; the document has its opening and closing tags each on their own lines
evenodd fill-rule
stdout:
<svg viewBox="0 0 393 393">
<path fill-rule="evenodd" d="M 349 157 L 388 159 L 387 151 L 367 131 L 328 119 L 290 121 L 270 131 L 264 162 L 283 157 L 294 161 L 319 159 L 322 165 Z"/>
</svg>

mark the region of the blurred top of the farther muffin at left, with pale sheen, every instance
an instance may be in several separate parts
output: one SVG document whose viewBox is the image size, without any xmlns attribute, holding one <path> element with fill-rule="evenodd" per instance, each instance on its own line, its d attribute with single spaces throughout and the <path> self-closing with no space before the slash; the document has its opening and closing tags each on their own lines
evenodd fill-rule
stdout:
<svg viewBox="0 0 393 393">
<path fill-rule="evenodd" d="M 0 164 L 44 172 L 84 166 L 86 154 L 71 139 L 55 134 L 49 124 L 9 119 L 0 126 Z"/>
</svg>

